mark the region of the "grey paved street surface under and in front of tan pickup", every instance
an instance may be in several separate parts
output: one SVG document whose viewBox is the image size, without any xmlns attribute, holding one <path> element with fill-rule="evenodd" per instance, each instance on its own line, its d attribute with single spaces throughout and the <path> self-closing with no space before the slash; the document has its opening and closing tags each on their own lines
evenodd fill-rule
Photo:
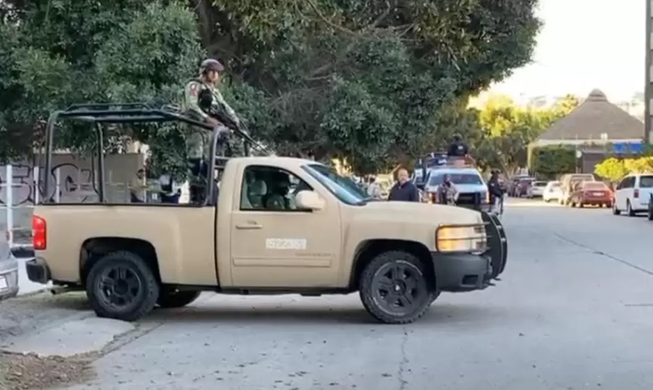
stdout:
<svg viewBox="0 0 653 390">
<path fill-rule="evenodd" d="M 411 325 L 372 322 L 357 294 L 205 294 L 184 310 L 157 310 L 87 355 L 83 378 L 74 378 L 71 363 L 70 378 L 52 383 L 73 390 L 653 389 L 653 222 L 511 200 L 504 223 L 509 263 L 497 286 L 443 294 Z M 90 315 L 79 295 L 17 298 L 0 303 L 0 313 L 0 344 Z"/>
</svg>

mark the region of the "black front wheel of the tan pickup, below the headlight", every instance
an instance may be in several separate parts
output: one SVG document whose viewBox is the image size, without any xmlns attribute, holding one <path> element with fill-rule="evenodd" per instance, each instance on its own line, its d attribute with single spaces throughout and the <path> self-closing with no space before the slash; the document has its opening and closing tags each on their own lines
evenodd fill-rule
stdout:
<svg viewBox="0 0 653 390">
<path fill-rule="evenodd" d="M 412 323 L 434 300 L 424 265 L 404 251 L 374 257 L 365 266 L 358 285 L 365 310 L 381 323 Z"/>
</svg>

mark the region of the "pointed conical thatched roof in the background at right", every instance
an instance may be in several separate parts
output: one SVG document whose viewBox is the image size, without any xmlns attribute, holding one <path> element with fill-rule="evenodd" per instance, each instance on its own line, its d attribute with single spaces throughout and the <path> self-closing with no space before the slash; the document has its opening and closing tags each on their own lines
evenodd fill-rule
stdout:
<svg viewBox="0 0 653 390">
<path fill-rule="evenodd" d="M 559 119 L 537 141 L 641 139 L 644 124 L 618 106 L 610 103 L 600 90 L 593 90 L 587 99 L 566 117 Z"/>
</svg>

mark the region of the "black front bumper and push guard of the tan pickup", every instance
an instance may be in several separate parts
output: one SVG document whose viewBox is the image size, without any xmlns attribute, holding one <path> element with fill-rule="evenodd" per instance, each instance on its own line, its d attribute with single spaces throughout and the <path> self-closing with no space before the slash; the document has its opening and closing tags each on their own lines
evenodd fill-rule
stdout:
<svg viewBox="0 0 653 390">
<path fill-rule="evenodd" d="M 432 252 L 436 285 L 440 291 L 461 292 L 485 289 L 506 268 L 508 239 L 502 223 L 495 214 L 481 213 L 486 223 L 488 249 L 472 253 Z"/>
</svg>

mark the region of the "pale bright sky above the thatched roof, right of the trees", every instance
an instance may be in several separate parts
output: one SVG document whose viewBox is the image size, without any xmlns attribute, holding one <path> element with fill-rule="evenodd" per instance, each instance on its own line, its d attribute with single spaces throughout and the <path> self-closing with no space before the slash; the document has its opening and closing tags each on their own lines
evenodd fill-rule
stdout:
<svg viewBox="0 0 653 390">
<path fill-rule="evenodd" d="M 540 0 L 543 19 L 533 62 L 492 92 L 513 99 L 586 96 L 611 101 L 644 90 L 646 0 Z"/>
</svg>

